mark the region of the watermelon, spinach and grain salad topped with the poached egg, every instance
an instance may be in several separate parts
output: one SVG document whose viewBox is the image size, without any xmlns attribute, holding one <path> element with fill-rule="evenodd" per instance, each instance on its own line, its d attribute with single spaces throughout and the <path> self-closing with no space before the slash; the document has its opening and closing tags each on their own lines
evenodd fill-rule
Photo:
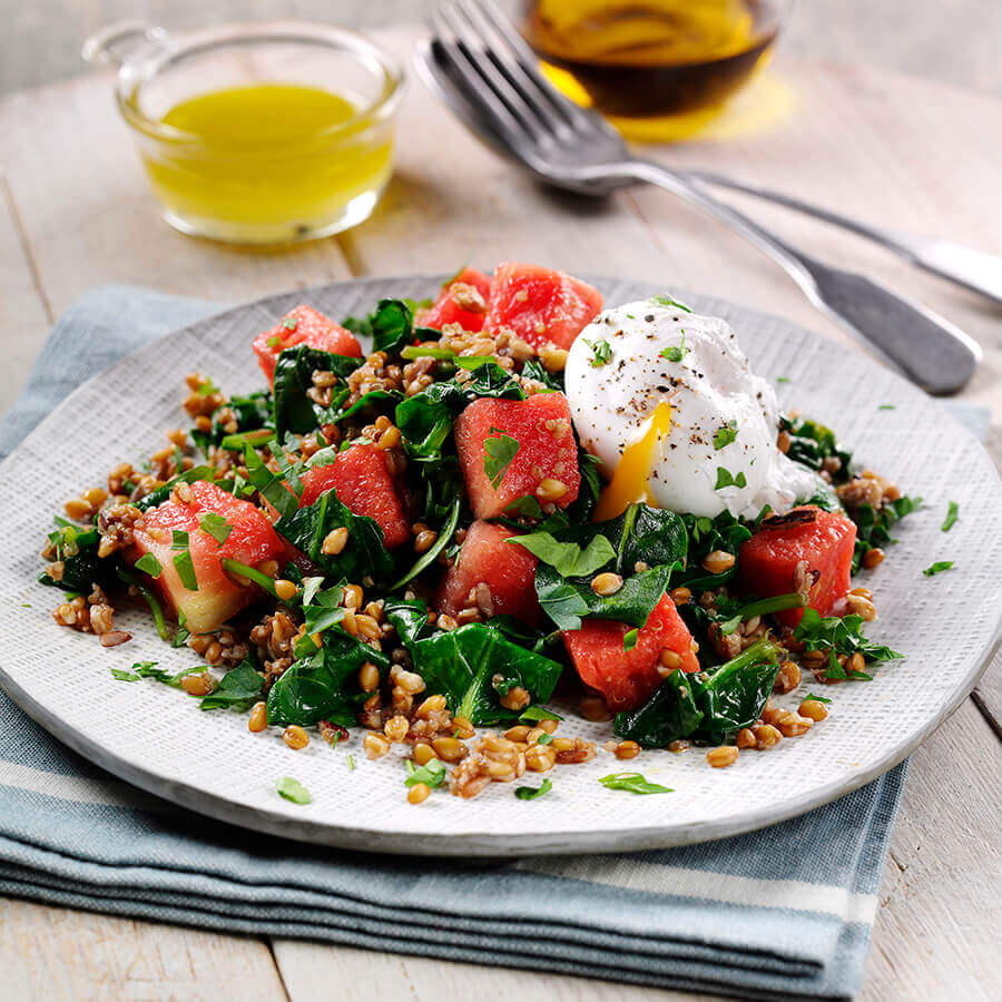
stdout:
<svg viewBox="0 0 1002 1002">
<path fill-rule="evenodd" d="M 116 609 L 141 601 L 200 659 L 122 681 L 293 749 L 399 746 L 416 804 L 602 754 L 699 746 L 730 766 L 824 720 L 811 686 L 901 657 L 864 635 L 853 578 L 918 500 L 782 413 L 723 320 L 668 295 L 603 308 L 504 263 L 433 302 L 341 323 L 302 305 L 250 337 L 263 389 L 193 373 L 191 426 L 69 501 L 46 541 L 57 623 L 117 647 Z M 608 739 L 574 736 L 554 699 Z M 308 799 L 288 777 L 278 793 Z"/>
</svg>

